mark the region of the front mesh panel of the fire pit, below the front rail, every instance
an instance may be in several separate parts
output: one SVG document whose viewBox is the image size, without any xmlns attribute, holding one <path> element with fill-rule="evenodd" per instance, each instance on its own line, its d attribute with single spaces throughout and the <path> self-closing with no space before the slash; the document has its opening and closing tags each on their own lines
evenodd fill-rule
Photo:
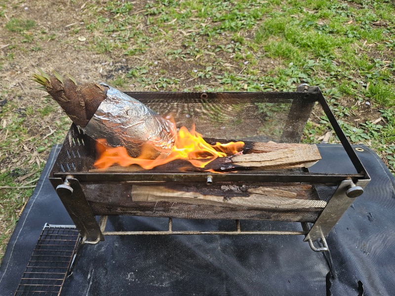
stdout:
<svg viewBox="0 0 395 296">
<path fill-rule="evenodd" d="M 321 197 L 316 186 L 304 183 L 107 183 L 82 188 L 96 215 L 289 222 L 315 221 L 333 194 L 327 190 Z"/>
</svg>

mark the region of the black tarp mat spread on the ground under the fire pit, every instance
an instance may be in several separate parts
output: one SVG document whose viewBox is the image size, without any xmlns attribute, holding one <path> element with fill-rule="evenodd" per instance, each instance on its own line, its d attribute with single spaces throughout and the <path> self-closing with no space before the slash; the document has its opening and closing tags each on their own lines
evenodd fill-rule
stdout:
<svg viewBox="0 0 395 296">
<path fill-rule="evenodd" d="M 394 178 L 369 148 L 357 152 L 372 181 L 327 242 L 328 262 L 302 236 L 106 236 L 85 245 L 61 295 L 394 295 Z M 352 171 L 344 149 L 319 145 L 323 160 L 312 171 Z M 47 175 L 59 146 L 8 244 L 0 267 L 0 295 L 13 295 L 45 222 L 71 224 Z M 164 230 L 167 219 L 111 217 L 107 230 Z M 283 222 L 241 221 L 243 230 L 287 229 Z M 234 221 L 173 220 L 173 230 L 233 230 Z M 328 289 L 330 288 L 330 291 Z"/>
</svg>

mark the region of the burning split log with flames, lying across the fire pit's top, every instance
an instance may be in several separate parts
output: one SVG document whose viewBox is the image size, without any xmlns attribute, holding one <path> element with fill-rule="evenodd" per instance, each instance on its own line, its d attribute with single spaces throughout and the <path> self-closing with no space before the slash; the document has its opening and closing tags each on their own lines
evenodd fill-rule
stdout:
<svg viewBox="0 0 395 296">
<path fill-rule="evenodd" d="M 229 146 L 236 145 L 239 142 L 230 142 Z M 242 142 L 241 142 L 242 143 Z M 251 142 L 250 142 L 251 143 Z M 217 143 L 219 144 L 219 143 Z M 248 144 L 248 143 L 247 143 Z M 241 145 L 241 144 L 240 144 Z M 99 145 L 100 147 L 100 145 Z M 176 146 L 177 147 L 177 144 Z M 234 146 L 235 149 L 240 149 L 242 146 Z M 262 150 L 260 150 L 262 149 Z M 191 158 L 177 158 L 177 153 L 171 153 L 168 158 L 149 160 L 145 158 L 133 158 L 127 154 L 127 151 L 122 148 L 106 148 L 101 147 L 101 157 L 95 162 L 98 168 L 109 168 L 114 164 L 118 166 L 111 167 L 112 171 L 135 171 L 139 170 L 133 164 L 138 164 L 145 169 L 152 169 L 158 166 L 162 171 L 201 171 L 201 170 L 215 170 L 224 171 L 229 169 L 240 168 L 259 168 L 259 169 L 290 169 L 300 167 L 310 167 L 315 164 L 321 156 L 316 145 L 306 144 L 271 144 L 271 143 L 253 143 L 250 151 L 269 151 L 260 153 L 240 154 L 235 151 L 228 152 L 231 156 L 217 156 L 205 159 L 197 158 L 198 155 L 191 155 Z M 231 151 L 228 149 L 228 151 Z M 192 165 L 187 165 L 185 162 L 174 162 L 175 159 L 185 159 Z M 171 163 L 169 163 L 172 161 Z M 196 165 L 198 164 L 198 165 Z M 91 170 L 96 171 L 96 170 Z"/>
</svg>

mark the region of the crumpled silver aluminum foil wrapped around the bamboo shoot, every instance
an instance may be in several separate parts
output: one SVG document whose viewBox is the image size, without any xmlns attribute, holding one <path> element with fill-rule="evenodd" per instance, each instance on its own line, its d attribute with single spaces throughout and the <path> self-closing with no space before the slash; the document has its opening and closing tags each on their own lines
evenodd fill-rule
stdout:
<svg viewBox="0 0 395 296">
<path fill-rule="evenodd" d="M 152 147 L 152 158 L 170 154 L 176 139 L 175 124 L 143 103 L 109 87 L 107 98 L 83 128 L 93 139 L 106 139 L 112 146 L 123 146 L 137 157 L 143 144 Z"/>
</svg>

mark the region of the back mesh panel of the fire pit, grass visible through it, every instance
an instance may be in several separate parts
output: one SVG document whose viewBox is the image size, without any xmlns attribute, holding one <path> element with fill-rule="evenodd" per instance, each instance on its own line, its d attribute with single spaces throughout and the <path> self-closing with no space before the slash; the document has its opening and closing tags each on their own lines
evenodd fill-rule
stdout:
<svg viewBox="0 0 395 296">
<path fill-rule="evenodd" d="M 302 93 L 128 94 L 162 116 L 174 117 L 178 127 L 190 128 L 195 123 L 197 131 L 205 137 L 250 141 L 278 142 L 285 126 L 292 126 L 299 133 L 314 104 L 310 94 Z M 296 110 L 296 105 L 303 108 Z M 292 111 L 298 111 L 298 116 L 289 116 Z M 282 139 L 282 142 L 294 141 L 293 137 Z"/>
</svg>

